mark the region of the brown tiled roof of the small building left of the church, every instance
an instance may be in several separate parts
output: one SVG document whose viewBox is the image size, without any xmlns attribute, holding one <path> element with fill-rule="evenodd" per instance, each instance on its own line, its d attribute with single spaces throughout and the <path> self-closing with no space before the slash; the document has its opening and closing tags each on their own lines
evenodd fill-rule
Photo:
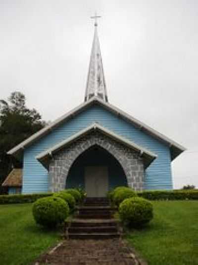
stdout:
<svg viewBox="0 0 198 265">
<path fill-rule="evenodd" d="M 13 169 L 5 178 L 2 186 L 21 187 L 22 186 L 22 169 Z"/>
</svg>

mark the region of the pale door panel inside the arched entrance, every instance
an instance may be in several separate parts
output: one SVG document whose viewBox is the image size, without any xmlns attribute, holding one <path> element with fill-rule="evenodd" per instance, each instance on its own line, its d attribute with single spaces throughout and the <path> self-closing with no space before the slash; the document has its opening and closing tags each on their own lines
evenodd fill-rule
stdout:
<svg viewBox="0 0 198 265">
<path fill-rule="evenodd" d="M 85 190 L 88 197 L 105 197 L 108 191 L 108 168 L 86 167 Z"/>
</svg>

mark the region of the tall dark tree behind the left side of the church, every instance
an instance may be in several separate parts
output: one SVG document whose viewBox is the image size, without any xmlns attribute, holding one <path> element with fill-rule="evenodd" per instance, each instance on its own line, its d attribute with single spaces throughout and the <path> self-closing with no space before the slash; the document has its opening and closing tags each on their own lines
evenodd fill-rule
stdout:
<svg viewBox="0 0 198 265">
<path fill-rule="evenodd" d="M 11 163 L 22 167 L 7 151 L 46 125 L 36 109 L 26 107 L 25 100 L 19 91 L 12 92 L 7 101 L 0 100 L 0 184 L 9 173 Z"/>
</svg>

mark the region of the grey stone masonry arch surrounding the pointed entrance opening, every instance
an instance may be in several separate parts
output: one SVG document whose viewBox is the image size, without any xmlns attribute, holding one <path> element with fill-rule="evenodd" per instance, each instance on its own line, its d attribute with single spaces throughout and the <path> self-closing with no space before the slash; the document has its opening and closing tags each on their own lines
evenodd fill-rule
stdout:
<svg viewBox="0 0 198 265">
<path fill-rule="evenodd" d="M 98 145 L 117 159 L 123 168 L 128 186 L 143 189 L 144 165 L 139 153 L 95 131 L 57 152 L 49 164 L 49 189 L 60 191 L 65 188 L 67 176 L 74 161 L 90 147 Z"/>
</svg>

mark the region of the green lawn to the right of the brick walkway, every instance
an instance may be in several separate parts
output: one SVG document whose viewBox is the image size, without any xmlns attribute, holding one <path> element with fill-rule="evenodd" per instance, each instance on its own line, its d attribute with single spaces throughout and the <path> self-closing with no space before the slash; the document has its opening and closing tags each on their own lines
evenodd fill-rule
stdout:
<svg viewBox="0 0 198 265">
<path fill-rule="evenodd" d="M 126 238 L 149 265 L 198 265 L 198 201 L 155 201 L 154 219 Z"/>
</svg>

